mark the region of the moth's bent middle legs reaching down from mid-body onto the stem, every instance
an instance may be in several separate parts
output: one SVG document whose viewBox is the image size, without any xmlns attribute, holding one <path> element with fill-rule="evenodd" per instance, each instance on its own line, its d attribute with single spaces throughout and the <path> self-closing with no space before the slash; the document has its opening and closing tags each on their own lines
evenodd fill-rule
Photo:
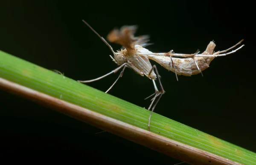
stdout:
<svg viewBox="0 0 256 165">
<path fill-rule="evenodd" d="M 156 75 L 157 75 L 157 78 L 158 78 L 158 81 L 159 81 L 159 84 L 160 84 L 160 91 L 158 91 L 157 86 L 156 86 L 156 84 L 155 84 L 155 82 L 154 82 L 154 80 L 153 80 L 153 84 L 154 84 L 154 88 L 155 88 L 155 93 L 153 94 L 154 97 L 151 99 L 151 104 L 150 104 L 150 106 L 148 107 L 148 110 L 150 110 L 151 107 L 152 107 L 152 105 L 153 105 L 153 103 L 154 103 L 154 102 L 155 102 L 155 103 L 154 103 L 154 105 L 153 105 L 153 107 L 152 107 L 152 109 L 151 109 L 151 113 L 150 113 L 150 116 L 149 116 L 149 118 L 148 118 L 148 131 L 150 131 L 150 119 L 151 119 L 152 113 L 153 113 L 155 107 L 157 106 L 157 103 L 159 102 L 161 96 L 165 93 L 165 91 L 164 91 L 164 89 L 163 89 L 163 85 L 162 85 L 161 80 L 160 80 L 160 75 L 159 75 L 159 73 L 158 73 L 158 70 L 157 70 L 156 65 L 153 65 L 153 66 L 152 66 L 152 68 L 151 68 L 150 72 L 148 73 L 148 75 L 150 75 L 150 74 L 153 72 L 153 69 L 155 69 L 155 72 L 156 72 Z M 153 95 L 151 95 L 151 96 L 153 96 Z M 158 96 L 159 96 L 159 97 L 158 97 Z M 157 97 L 158 97 L 158 98 L 157 98 Z M 157 101 L 155 101 L 156 98 L 157 98 Z"/>
</svg>

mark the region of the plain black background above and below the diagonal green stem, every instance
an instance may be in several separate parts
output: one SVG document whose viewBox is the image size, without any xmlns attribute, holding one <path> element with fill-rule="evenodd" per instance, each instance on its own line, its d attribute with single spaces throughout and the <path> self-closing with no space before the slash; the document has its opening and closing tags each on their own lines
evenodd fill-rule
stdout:
<svg viewBox="0 0 256 165">
<path fill-rule="evenodd" d="M 0 49 L 74 80 L 99 77 L 116 64 L 103 37 L 114 27 L 139 26 L 152 52 L 194 53 L 214 40 L 216 49 L 245 46 L 219 57 L 204 77 L 179 76 L 158 66 L 166 94 L 156 113 L 256 152 L 253 4 L 245 1 L 57 1 L 0 2 Z M 111 44 L 114 50 L 119 45 Z M 155 64 L 152 62 L 152 64 Z M 118 75 L 88 85 L 105 91 Z M 141 107 L 154 92 L 151 81 L 126 69 L 109 92 Z M 24 163 L 168 164 L 180 161 L 0 91 L 0 157 Z"/>
</svg>

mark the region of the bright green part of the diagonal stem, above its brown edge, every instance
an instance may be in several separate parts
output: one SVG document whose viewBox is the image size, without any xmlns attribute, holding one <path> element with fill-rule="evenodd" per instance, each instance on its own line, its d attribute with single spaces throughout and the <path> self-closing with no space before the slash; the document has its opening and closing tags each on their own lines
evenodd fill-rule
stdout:
<svg viewBox="0 0 256 165">
<path fill-rule="evenodd" d="M 1 51 L 0 77 L 121 122 L 148 129 L 150 111 Z M 256 153 L 157 113 L 153 113 L 151 118 L 151 132 L 244 165 L 256 165 Z"/>
</svg>

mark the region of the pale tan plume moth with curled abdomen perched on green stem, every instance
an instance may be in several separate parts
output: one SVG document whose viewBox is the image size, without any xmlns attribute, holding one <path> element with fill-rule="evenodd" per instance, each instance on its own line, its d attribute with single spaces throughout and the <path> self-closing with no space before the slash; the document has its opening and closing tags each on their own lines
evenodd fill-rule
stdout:
<svg viewBox="0 0 256 165">
<path fill-rule="evenodd" d="M 147 97 L 151 99 L 151 104 L 148 107 L 148 110 L 151 110 L 150 116 L 148 118 L 148 130 L 150 131 L 150 120 L 152 113 L 159 102 L 162 95 L 165 93 L 163 90 L 162 83 L 160 81 L 160 75 L 157 71 L 157 67 L 155 65 L 151 65 L 149 60 L 154 60 L 162 67 L 171 70 L 175 73 L 176 79 L 178 81 L 177 75 L 186 75 L 191 76 L 198 73 L 201 73 L 203 76 L 202 71 L 209 67 L 210 62 L 219 56 L 225 56 L 236 52 L 237 50 L 241 49 L 244 45 L 240 46 L 239 48 L 228 52 L 229 50 L 235 48 L 237 45 L 241 44 L 241 41 L 236 45 L 222 51 L 214 52 L 215 43 L 210 42 L 207 46 L 207 49 L 199 54 L 199 50 L 193 54 L 182 54 L 182 53 L 174 53 L 173 50 L 167 53 L 153 53 L 150 52 L 148 49 L 145 49 L 145 46 L 149 45 L 149 36 L 143 35 L 139 37 L 134 37 L 134 34 L 137 30 L 137 26 L 122 26 L 120 29 L 113 29 L 107 36 L 108 41 L 112 43 L 117 43 L 121 45 L 124 49 L 120 49 L 117 52 L 113 51 L 111 45 L 101 37 L 86 21 L 83 22 L 109 47 L 111 52 L 113 53 L 114 57 L 111 57 L 112 61 L 114 61 L 119 67 L 112 70 L 111 72 L 92 80 L 87 81 L 79 81 L 81 83 L 88 83 L 100 80 L 112 73 L 118 72 L 121 68 L 122 71 L 120 72 L 118 78 L 111 87 L 105 92 L 108 93 L 109 90 L 116 84 L 119 78 L 122 77 L 124 70 L 126 67 L 131 68 L 137 74 L 141 76 L 146 76 L 149 79 L 152 79 L 155 93 L 151 96 Z M 144 47 L 143 47 L 144 46 Z M 227 52 L 227 53 L 224 53 Z M 155 72 L 154 72 L 155 70 Z M 157 89 L 157 85 L 155 83 L 156 78 L 158 78 L 160 84 L 160 91 Z M 145 99 L 147 99 L 145 98 Z"/>
</svg>

